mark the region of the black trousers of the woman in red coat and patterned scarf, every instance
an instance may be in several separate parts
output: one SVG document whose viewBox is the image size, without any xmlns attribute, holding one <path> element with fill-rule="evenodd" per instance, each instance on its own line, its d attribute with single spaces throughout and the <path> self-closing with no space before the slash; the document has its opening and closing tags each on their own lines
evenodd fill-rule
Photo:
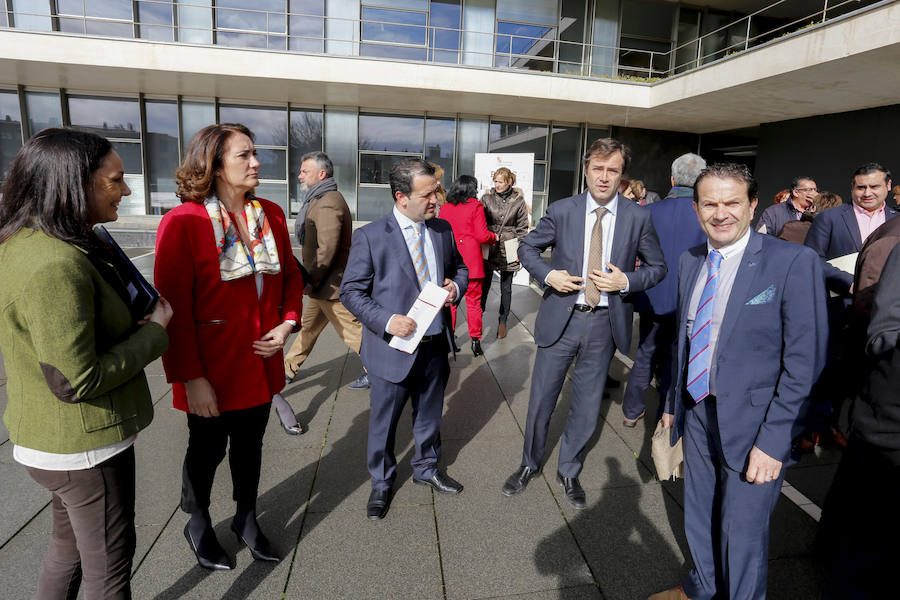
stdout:
<svg viewBox="0 0 900 600">
<path fill-rule="evenodd" d="M 218 417 L 188 413 L 188 448 L 181 473 L 181 510 L 193 513 L 209 509 L 216 468 L 225 458 L 231 468 L 232 497 L 238 511 L 256 506 L 262 438 L 269 422 L 271 403 L 230 410 Z"/>
</svg>

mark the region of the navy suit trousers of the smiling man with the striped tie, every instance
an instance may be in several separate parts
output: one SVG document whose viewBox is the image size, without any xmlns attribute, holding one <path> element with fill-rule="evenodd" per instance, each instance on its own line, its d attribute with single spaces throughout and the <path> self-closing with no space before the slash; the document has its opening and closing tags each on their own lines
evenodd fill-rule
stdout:
<svg viewBox="0 0 900 600">
<path fill-rule="evenodd" d="M 707 396 L 700 404 L 691 398 L 684 402 L 684 530 L 694 559 L 684 593 L 691 600 L 762 600 L 769 519 L 784 469 L 769 483 L 747 483 L 743 472 L 725 462 L 715 397 Z"/>
</svg>

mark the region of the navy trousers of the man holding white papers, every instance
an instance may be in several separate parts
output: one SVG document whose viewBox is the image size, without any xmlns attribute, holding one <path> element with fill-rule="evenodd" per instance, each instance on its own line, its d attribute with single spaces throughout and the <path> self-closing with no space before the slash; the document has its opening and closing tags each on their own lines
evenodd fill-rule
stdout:
<svg viewBox="0 0 900 600">
<path fill-rule="evenodd" d="M 416 453 L 412 459 L 413 477 L 430 479 L 434 476 L 441 458 L 441 413 L 449 377 L 450 363 L 443 333 L 419 344 L 409 375 L 400 383 L 369 372 L 371 411 L 366 462 L 373 489 L 389 490 L 394 485 L 397 476 L 394 438 L 407 399 L 412 402 L 413 437 L 416 442 Z"/>
</svg>

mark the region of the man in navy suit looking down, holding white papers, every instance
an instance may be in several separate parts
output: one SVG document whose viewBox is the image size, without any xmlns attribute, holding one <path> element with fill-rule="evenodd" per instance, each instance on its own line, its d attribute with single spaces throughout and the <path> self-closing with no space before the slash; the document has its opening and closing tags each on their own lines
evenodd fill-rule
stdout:
<svg viewBox="0 0 900 600">
<path fill-rule="evenodd" d="M 365 326 L 360 357 L 369 372 L 369 440 L 367 464 L 372 492 L 366 505 L 370 519 L 387 514 L 396 478 L 394 435 L 407 399 L 413 405 L 413 482 L 444 494 L 463 486 L 438 471 L 441 458 L 441 413 L 450 375 L 452 347 L 448 306 L 465 294 L 469 271 L 453 241 L 450 224 L 435 219 L 438 180 L 434 167 L 419 159 L 391 168 L 391 214 L 353 235 L 341 302 Z M 427 325 L 411 354 L 392 348 L 394 336 L 406 337 L 416 322 L 406 313 L 425 284 L 443 287 L 447 304 Z"/>
</svg>

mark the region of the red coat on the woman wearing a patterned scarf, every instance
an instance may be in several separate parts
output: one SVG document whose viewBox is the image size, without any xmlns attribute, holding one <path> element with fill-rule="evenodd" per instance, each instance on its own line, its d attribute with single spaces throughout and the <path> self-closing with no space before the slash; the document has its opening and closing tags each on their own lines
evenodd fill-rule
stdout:
<svg viewBox="0 0 900 600">
<path fill-rule="evenodd" d="M 206 377 L 219 411 L 269 402 L 284 387 L 281 352 L 269 358 L 252 343 L 285 319 L 300 322 L 303 278 L 291 253 L 284 213 L 259 199 L 269 221 L 281 272 L 222 281 L 212 223 L 202 204 L 185 202 L 162 218 L 156 237 L 156 288 L 172 304 L 169 349 L 163 354 L 175 408 L 187 411 L 184 383 Z"/>
</svg>

